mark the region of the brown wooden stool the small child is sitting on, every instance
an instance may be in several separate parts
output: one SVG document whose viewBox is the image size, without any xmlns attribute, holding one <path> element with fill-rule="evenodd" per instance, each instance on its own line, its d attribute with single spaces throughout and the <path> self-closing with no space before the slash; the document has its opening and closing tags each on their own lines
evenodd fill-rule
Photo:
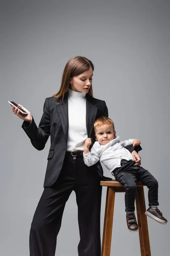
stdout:
<svg viewBox="0 0 170 256">
<path fill-rule="evenodd" d="M 100 185 L 108 187 L 103 228 L 102 256 L 110 256 L 115 192 L 125 192 L 125 188 L 116 180 L 101 181 Z M 137 182 L 136 212 L 139 225 L 140 249 L 141 256 L 151 256 L 147 216 L 144 214 L 146 207 L 143 186 L 142 182 Z"/>
</svg>

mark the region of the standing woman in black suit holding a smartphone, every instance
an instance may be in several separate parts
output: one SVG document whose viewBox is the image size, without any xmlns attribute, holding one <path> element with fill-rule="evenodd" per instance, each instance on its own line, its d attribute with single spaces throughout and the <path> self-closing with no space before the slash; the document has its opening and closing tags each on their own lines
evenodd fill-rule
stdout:
<svg viewBox="0 0 170 256">
<path fill-rule="evenodd" d="M 31 113 L 27 116 L 17 108 L 13 112 L 24 120 L 23 129 L 38 150 L 51 136 L 44 191 L 34 214 L 30 230 L 30 255 L 54 256 L 62 214 L 74 190 L 78 206 L 80 241 L 79 256 L 100 256 L 100 180 L 102 166 L 87 167 L 83 161 L 84 142 L 91 137 L 94 144 L 94 121 L 108 116 L 104 101 L 93 98 L 94 65 L 82 56 L 71 58 L 65 66 L 59 92 L 46 98 L 39 127 Z M 69 124 L 69 125 L 68 125 Z M 133 157 L 140 164 L 139 155 Z"/>
</svg>

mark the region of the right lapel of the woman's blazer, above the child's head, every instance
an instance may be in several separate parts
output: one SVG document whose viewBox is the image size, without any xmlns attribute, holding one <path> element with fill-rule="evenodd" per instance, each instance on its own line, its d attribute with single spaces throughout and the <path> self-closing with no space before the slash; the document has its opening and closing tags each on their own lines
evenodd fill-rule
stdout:
<svg viewBox="0 0 170 256">
<path fill-rule="evenodd" d="M 97 108 L 93 105 L 90 97 L 86 95 L 86 128 L 88 132 L 88 138 L 91 137 L 91 133 L 94 127 L 94 121 L 96 119 Z"/>
</svg>

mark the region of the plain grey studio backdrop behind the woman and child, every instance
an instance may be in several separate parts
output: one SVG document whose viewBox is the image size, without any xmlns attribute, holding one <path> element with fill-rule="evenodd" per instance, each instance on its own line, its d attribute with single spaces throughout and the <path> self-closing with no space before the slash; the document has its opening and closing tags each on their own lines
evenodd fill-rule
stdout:
<svg viewBox="0 0 170 256">
<path fill-rule="evenodd" d="M 45 98 L 59 90 L 75 55 L 94 62 L 94 97 L 106 101 L 117 134 L 142 141 L 142 166 L 159 181 L 160 209 L 170 219 L 170 2 L 1 0 L 0 19 L 0 255 L 29 255 L 50 146 L 48 140 L 43 151 L 33 148 L 8 100 L 28 108 L 38 124 Z M 101 231 L 105 196 L 104 188 Z M 116 194 L 111 255 L 139 256 L 139 234 L 127 230 L 124 208 L 124 194 Z M 148 227 L 152 256 L 168 256 L 170 225 L 148 219 Z M 72 193 L 56 255 L 77 255 L 78 242 Z"/>
</svg>

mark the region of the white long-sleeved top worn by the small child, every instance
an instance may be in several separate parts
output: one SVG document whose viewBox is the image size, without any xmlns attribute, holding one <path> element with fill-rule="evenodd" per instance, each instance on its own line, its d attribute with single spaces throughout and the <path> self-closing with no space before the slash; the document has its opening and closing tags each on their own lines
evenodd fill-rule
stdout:
<svg viewBox="0 0 170 256">
<path fill-rule="evenodd" d="M 121 141 L 120 137 L 116 136 L 115 139 L 111 140 L 106 145 L 100 145 L 99 142 L 96 141 L 88 154 L 83 153 L 84 162 L 87 166 L 92 166 L 100 161 L 112 172 L 115 168 L 121 166 L 121 159 L 135 161 L 130 151 L 124 148 L 127 145 L 131 145 L 133 140 Z"/>
</svg>

